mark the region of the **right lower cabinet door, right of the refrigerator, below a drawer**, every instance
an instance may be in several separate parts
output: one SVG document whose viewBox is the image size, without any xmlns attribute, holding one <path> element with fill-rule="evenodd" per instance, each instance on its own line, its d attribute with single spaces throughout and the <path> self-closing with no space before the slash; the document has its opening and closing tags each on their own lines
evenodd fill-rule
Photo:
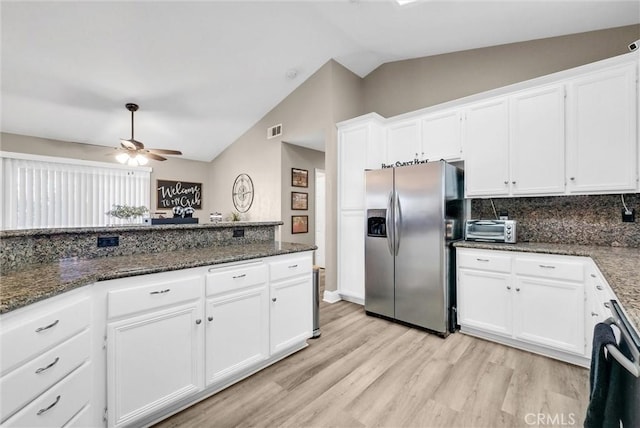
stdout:
<svg viewBox="0 0 640 428">
<path fill-rule="evenodd" d="M 584 354 L 584 286 L 516 277 L 516 339 Z"/>
</svg>

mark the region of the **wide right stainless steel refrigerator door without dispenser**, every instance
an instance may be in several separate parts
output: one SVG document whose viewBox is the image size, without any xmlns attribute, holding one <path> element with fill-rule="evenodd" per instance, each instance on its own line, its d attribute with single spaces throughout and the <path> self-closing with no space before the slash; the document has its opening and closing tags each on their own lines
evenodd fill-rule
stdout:
<svg viewBox="0 0 640 428">
<path fill-rule="evenodd" d="M 395 318 L 447 332 L 444 162 L 396 168 Z"/>
</svg>

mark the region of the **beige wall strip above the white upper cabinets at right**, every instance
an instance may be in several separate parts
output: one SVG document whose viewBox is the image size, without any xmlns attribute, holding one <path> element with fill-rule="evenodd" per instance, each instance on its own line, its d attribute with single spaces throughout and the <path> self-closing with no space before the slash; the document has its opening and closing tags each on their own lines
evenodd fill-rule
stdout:
<svg viewBox="0 0 640 428">
<path fill-rule="evenodd" d="M 384 117 L 628 52 L 640 25 L 383 64 L 364 78 L 367 112 Z"/>
</svg>

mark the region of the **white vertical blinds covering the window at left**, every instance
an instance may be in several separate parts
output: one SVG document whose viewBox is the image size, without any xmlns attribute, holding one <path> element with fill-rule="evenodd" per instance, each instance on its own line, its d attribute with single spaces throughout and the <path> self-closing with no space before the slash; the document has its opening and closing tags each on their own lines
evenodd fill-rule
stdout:
<svg viewBox="0 0 640 428">
<path fill-rule="evenodd" d="M 113 205 L 150 204 L 151 168 L 0 152 L 2 229 L 124 224 Z"/>
</svg>

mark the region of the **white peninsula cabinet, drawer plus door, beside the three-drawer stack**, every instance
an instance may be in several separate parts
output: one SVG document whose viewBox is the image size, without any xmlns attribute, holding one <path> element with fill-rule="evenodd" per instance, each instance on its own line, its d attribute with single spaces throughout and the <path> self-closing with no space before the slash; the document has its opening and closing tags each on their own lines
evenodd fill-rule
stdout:
<svg viewBox="0 0 640 428">
<path fill-rule="evenodd" d="M 136 277 L 144 285 L 109 293 L 109 311 L 139 303 L 153 307 L 107 325 L 109 423 L 143 419 L 204 387 L 202 276 Z M 172 294 L 174 293 L 174 294 Z"/>
</svg>

